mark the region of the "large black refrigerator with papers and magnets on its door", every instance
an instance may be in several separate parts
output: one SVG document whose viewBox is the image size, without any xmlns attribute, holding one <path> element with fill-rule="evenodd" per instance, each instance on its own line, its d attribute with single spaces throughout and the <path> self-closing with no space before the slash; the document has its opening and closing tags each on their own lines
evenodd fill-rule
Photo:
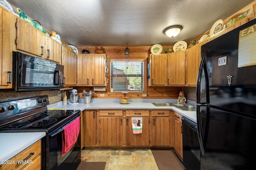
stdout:
<svg viewBox="0 0 256 170">
<path fill-rule="evenodd" d="M 256 19 L 202 45 L 196 102 L 201 170 L 256 169 Z"/>
</svg>

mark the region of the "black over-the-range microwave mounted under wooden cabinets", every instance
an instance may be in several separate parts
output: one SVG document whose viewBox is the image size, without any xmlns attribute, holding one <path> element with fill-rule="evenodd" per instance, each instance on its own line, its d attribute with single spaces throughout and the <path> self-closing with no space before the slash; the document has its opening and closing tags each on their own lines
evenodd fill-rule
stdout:
<svg viewBox="0 0 256 170">
<path fill-rule="evenodd" d="M 63 65 L 16 51 L 12 52 L 12 64 L 9 79 L 14 91 L 63 88 Z"/>
</svg>

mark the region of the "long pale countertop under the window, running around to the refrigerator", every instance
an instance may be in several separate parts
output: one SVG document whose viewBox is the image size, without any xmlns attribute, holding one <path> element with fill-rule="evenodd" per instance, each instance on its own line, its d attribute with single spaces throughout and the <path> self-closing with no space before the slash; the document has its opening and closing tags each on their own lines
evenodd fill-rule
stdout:
<svg viewBox="0 0 256 170">
<path fill-rule="evenodd" d="M 120 104 L 120 99 L 92 99 L 92 102 L 90 104 L 85 104 L 84 99 L 79 100 L 79 104 L 76 105 L 62 105 L 62 102 L 58 102 L 55 104 L 50 104 L 47 106 L 48 109 L 65 109 L 65 110 L 80 110 L 84 111 L 86 109 L 92 110 L 92 109 L 172 109 L 179 113 L 180 115 L 183 115 L 187 117 L 188 119 L 191 119 L 192 121 L 196 122 L 196 111 L 184 111 L 182 109 L 178 109 L 174 106 L 154 106 L 152 103 L 154 102 L 168 102 L 168 103 L 176 103 L 176 99 L 150 99 L 150 100 L 143 100 L 143 99 L 128 99 L 130 102 L 129 104 Z M 187 101 L 188 105 L 195 106 L 195 102 Z"/>
</svg>

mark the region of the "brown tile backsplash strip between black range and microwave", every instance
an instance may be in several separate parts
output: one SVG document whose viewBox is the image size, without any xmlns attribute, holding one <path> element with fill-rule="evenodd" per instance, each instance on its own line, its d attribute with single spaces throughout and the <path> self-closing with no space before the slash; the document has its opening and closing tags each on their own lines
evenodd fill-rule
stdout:
<svg viewBox="0 0 256 170">
<path fill-rule="evenodd" d="M 35 92 L 0 92 L 0 102 L 21 100 L 44 95 L 48 95 L 50 104 L 60 102 L 62 100 L 62 95 L 59 96 L 59 90 L 45 90 Z"/>
</svg>

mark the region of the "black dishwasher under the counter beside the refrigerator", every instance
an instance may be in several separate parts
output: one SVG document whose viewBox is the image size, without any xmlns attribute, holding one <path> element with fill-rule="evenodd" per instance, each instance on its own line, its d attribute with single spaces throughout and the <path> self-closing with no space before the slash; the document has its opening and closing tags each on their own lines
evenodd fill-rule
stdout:
<svg viewBox="0 0 256 170">
<path fill-rule="evenodd" d="M 197 125 L 182 116 L 183 164 L 187 170 L 200 170 L 200 145 Z"/>
</svg>

